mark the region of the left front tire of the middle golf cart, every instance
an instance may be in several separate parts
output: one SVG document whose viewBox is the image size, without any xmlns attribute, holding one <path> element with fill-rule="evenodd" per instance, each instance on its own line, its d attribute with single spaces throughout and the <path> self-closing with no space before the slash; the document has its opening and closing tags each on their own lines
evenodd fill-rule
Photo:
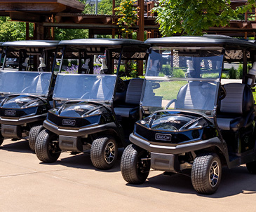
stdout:
<svg viewBox="0 0 256 212">
<path fill-rule="evenodd" d="M 61 150 L 58 143 L 53 143 L 57 140 L 57 135 L 50 132 L 48 129 L 43 129 L 36 139 L 36 156 L 42 162 L 55 162 L 60 157 Z"/>
</svg>

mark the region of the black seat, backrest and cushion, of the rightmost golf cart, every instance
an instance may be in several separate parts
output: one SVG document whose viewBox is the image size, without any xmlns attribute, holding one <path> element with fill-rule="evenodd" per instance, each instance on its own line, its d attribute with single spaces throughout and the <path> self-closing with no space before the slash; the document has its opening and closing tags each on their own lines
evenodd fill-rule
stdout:
<svg viewBox="0 0 256 212">
<path fill-rule="evenodd" d="M 255 111 L 250 87 L 241 83 L 229 83 L 224 88 L 227 94 L 219 103 L 217 125 L 222 130 L 234 132 L 251 125 Z"/>
</svg>

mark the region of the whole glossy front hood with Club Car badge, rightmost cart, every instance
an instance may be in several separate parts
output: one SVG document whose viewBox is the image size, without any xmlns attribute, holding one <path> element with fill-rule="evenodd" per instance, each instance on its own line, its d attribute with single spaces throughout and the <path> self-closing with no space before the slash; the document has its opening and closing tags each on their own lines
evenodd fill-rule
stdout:
<svg viewBox="0 0 256 212">
<path fill-rule="evenodd" d="M 156 111 L 137 121 L 134 133 L 151 143 L 182 143 L 216 136 L 213 122 L 201 113 Z"/>
</svg>

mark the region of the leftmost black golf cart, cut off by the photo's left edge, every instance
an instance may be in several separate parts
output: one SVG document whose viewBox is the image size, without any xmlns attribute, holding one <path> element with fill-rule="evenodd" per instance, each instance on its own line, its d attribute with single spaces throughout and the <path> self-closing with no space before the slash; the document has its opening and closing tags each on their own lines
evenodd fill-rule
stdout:
<svg viewBox="0 0 256 212">
<path fill-rule="evenodd" d="M 34 150 L 43 129 L 52 95 L 53 70 L 58 41 L 13 41 L 3 43 L 4 64 L 0 71 L 1 135 L 13 141 L 29 136 Z M 6 58 L 18 59 L 18 71 L 6 67 Z"/>
</svg>

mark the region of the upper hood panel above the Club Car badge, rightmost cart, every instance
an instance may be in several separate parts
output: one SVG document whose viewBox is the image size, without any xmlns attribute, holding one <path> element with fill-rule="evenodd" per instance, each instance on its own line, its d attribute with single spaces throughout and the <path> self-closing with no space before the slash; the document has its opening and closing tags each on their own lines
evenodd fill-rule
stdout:
<svg viewBox="0 0 256 212">
<path fill-rule="evenodd" d="M 157 111 L 137 124 L 153 130 L 177 132 L 206 127 L 208 120 L 195 113 Z"/>
</svg>

